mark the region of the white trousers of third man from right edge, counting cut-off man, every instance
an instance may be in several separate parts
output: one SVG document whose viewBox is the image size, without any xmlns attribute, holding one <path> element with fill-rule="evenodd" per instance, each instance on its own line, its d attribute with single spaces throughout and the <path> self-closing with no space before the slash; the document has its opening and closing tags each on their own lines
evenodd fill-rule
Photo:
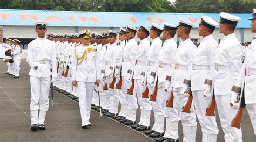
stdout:
<svg viewBox="0 0 256 142">
<path fill-rule="evenodd" d="M 216 123 L 216 117 L 205 115 L 210 99 L 206 100 L 204 98 L 204 90 L 193 91 L 192 93 L 194 107 L 196 109 L 198 121 L 201 125 L 202 133 L 218 134 L 219 130 Z"/>
</svg>

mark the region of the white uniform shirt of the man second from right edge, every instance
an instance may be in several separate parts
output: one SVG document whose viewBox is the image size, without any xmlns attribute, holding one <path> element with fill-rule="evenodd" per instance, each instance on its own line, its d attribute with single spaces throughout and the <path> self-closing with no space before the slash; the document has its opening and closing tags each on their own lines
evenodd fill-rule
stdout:
<svg viewBox="0 0 256 142">
<path fill-rule="evenodd" d="M 242 45 L 234 33 L 221 40 L 216 53 L 215 65 L 228 67 L 227 70 L 214 71 L 215 95 L 232 94 L 231 88 L 237 81 L 242 66 Z"/>
</svg>

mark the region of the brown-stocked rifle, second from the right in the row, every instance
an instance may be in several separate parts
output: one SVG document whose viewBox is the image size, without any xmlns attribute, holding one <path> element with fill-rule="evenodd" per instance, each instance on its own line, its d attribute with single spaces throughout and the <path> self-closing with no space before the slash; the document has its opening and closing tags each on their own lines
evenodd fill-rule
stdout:
<svg viewBox="0 0 256 142">
<path fill-rule="evenodd" d="M 209 102 L 208 107 L 206 108 L 205 115 L 215 116 L 216 99 L 215 99 L 215 94 L 214 94 L 214 89 L 213 89 L 214 80 L 205 79 L 205 84 L 212 86 L 212 89 L 211 89 L 212 99 Z"/>
</svg>

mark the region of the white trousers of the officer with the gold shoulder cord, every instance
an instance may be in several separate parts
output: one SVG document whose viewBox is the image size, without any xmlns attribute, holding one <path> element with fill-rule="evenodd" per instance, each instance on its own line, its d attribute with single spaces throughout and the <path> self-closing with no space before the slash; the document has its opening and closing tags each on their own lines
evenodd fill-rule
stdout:
<svg viewBox="0 0 256 142">
<path fill-rule="evenodd" d="M 94 85 L 95 82 L 77 82 L 82 123 L 89 121 L 91 116 L 91 101 Z"/>
</svg>

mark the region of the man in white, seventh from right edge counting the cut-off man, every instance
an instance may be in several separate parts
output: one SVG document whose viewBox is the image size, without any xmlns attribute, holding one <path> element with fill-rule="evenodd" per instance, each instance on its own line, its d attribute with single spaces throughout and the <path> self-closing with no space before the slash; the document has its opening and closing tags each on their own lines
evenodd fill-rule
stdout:
<svg viewBox="0 0 256 142">
<path fill-rule="evenodd" d="M 139 46 L 136 53 L 136 62 L 135 66 L 132 68 L 134 70 L 134 91 L 133 94 L 137 96 L 137 100 L 140 106 L 140 120 L 138 124 L 132 125 L 133 129 L 137 131 L 144 131 L 150 129 L 150 115 L 152 106 L 149 101 L 149 98 L 143 98 L 142 95 L 146 89 L 146 84 L 143 84 L 142 81 L 145 79 L 146 75 L 146 58 L 147 50 L 150 47 L 150 41 L 147 39 L 149 36 L 150 29 L 142 24 L 137 33 L 138 38 L 140 38 Z M 141 75 L 143 72 L 143 75 Z"/>
</svg>

